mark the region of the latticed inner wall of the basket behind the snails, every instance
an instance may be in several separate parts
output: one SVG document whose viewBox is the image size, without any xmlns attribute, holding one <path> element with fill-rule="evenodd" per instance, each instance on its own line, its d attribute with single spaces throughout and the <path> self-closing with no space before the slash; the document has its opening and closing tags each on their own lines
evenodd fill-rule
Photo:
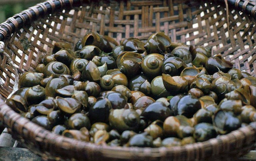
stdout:
<svg viewBox="0 0 256 161">
<path fill-rule="evenodd" d="M 229 8 L 229 28 L 224 5 L 190 1 L 111 1 L 90 3 L 45 15 L 14 32 L 5 43 L 18 72 L 31 71 L 43 53 L 52 53 L 55 42 L 74 45 L 87 32 L 114 37 L 146 40 L 163 31 L 172 41 L 212 47 L 212 55 L 222 54 L 235 67 L 255 75 L 255 20 Z M 12 91 L 13 69 L 2 59 L 2 98 Z"/>
</svg>

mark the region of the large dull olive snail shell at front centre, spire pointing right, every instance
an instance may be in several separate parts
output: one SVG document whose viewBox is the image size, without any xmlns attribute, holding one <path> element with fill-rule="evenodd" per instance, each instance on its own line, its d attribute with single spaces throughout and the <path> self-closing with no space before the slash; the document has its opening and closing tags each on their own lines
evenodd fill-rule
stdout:
<svg viewBox="0 0 256 161">
<path fill-rule="evenodd" d="M 119 132 L 135 130 L 139 125 L 139 115 L 133 109 L 111 109 L 109 124 Z"/>
</svg>

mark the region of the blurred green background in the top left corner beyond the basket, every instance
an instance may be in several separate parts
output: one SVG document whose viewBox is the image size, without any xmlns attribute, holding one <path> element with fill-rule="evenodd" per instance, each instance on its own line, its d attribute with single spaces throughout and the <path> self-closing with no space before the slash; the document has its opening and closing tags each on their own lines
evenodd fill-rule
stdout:
<svg viewBox="0 0 256 161">
<path fill-rule="evenodd" d="M 14 14 L 43 1 L 44 0 L 0 0 L 0 23 L 12 17 Z"/>
</svg>

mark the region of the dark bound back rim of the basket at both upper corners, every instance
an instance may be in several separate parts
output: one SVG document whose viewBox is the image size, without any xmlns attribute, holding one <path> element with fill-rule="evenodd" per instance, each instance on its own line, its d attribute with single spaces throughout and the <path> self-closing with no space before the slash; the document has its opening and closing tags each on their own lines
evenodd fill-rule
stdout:
<svg viewBox="0 0 256 161">
<path fill-rule="evenodd" d="M 190 0 L 188 0 L 189 2 Z M 214 0 L 219 3 L 224 3 L 226 0 Z M 65 8 L 72 8 L 73 6 L 80 6 L 83 3 L 94 2 L 93 0 L 47 0 L 39 3 L 21 13 L 15 14 L 13 17 L 7 19 L 0 24 L 0 41 L 4 41 L 15 30 L 20 29 L 25 24 L 30 24 L 39 17 L 47 13 L 53 13 L 55 10 L 62 10 Z M 174 0 L 174 2 L 176 2 Z M 229 7 L 235 7 L 238 10 L 243 10 L 247 14 L 256 18 L 256 4 L 251 0 L 227 0 Z M 179 1 L 177 1 L 179 3 Z"/>
</svg>

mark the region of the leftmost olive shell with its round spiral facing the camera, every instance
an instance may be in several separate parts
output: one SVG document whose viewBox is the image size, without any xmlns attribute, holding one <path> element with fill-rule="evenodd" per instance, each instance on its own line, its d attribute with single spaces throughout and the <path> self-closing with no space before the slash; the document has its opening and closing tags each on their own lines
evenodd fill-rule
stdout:
<svg viewBox="0 0 256 161">
<path fill-rule="evenodd" d="M 48 63 L 44 69 L 44 77 L 51 76 L 52 74 L 54 78 L 57 78 L 62 74 L 70 74 L 70 70 L 65 64 L 54 61 Z"/>
</svg>

